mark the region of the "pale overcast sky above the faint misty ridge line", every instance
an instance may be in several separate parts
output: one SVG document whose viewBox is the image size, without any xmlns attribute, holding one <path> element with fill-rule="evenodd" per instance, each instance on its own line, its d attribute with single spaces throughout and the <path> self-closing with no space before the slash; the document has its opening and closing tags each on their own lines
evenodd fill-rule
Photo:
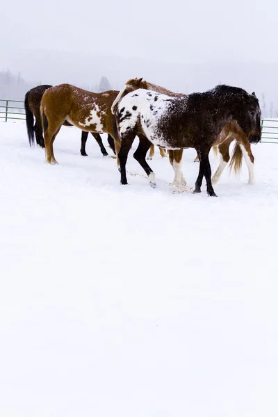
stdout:
<svg viewBox="0 0 278 417">
<path fill-rule="evenodd" d="M 183 62 L 278 62 L 277 9 L 275 0 L 6 1 L 0 54 L 63 49 Z"/>
</svg>

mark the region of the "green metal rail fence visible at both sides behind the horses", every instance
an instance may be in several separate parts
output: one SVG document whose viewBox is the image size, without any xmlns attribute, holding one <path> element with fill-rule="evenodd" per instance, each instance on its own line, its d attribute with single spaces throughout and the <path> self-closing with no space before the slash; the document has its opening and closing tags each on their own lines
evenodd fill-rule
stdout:
<svg viewBox="0 0 278 417">
<path fill-rule="evenodd" d="M 24 101 L 0 99 L 0 120 L 7 122 L 9 119 L 25 120 L 25 118 Z M 278 119 L 261 120 L 261 141 L 278 144 Z"/>
</svg>

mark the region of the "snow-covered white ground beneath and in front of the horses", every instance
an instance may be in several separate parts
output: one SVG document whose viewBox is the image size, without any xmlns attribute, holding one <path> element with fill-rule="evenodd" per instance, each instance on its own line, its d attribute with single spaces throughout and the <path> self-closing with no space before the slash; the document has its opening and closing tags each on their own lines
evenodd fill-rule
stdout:
<svg viewBox="0 0 278 417">
<path fill-rule="evenodd" d="M 49 166 L 0 122 L 0 416 L 277 417 L 278 145 L 213 198 L 174 193 L 158 149 L 158 188 L 132 152 L 120 186 L 80 139 L 61 129 Z"/>
</svg>

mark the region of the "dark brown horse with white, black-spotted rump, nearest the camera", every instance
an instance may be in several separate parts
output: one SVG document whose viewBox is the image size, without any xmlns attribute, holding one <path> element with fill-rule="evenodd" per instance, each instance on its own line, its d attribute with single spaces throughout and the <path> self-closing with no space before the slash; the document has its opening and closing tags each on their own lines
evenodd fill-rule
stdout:
<svg viewBox="0 0 278 417">
<path fill-rule="evenodd" d="M 115 106 L 113 107 L 115 112 Z M 225 129 L 230 129 L 227 135 Z M 217 85 L 206 92 L 195 92 L 186 97 L 170 97 L 151 90 L 129 92 L 120 101 L 115 112 L 115 136 L 121 142 L 118 154 L 121 183 L 127 184 L 126 160 L 134 138 L 139 136 L 138 149 L 133 155 L 147 173 L 152 186 L 155 175 L 145 157 L 149 142 L 165 149 L 196 149 L 199 156 L 199 174 L 194 193 L 201 193 L 203 177 L 207 193 L 216 196 L 211 183 L 211 165 L 208 154 L 213 145 L 236 137 L 240 152 L 253 169 L 254 157 L 248 153 L 249 143 L 261 140 L 261 109 L 255 93 L 242 88 Z M 227 140 L 228 141 L 228 140 Z M 236 156 L 235 156 L 236 161 Z M 181 180 L 181 159 L 173 158 L 175 178 Z M 226 161 L 220 162 L 220 171 Z M 220 172 L 215 173 L 217 179 Z"/>
</svg>

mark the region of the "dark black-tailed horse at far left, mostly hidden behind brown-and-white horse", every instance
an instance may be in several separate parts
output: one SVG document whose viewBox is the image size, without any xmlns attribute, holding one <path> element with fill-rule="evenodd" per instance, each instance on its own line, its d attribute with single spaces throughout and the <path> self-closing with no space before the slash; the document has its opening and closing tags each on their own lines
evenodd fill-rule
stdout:
<svg viewBox="0 0 278 417">
<path fill-rule="evenodd" d="M 42 135 L 42 123 L 40 120 L 40 101 L 42 99 L 42 95 L 46 90 L 51 88 L 52 85 L 38 85 L 37 87 L 31 88 L 31 90 L 28 90 L 25 95 L 24 100 L 24 106 L 25 106 L 25 113 L 26 113 L 26 128 L 28 133 L 28 139 L 29 144 L 32 146 L 36 140 L 37 145 L 44 148 L 44 138 Z M 34 117 L 35 117 L 35 124 L 34 124 Z M 69 122 L 65 121 L 63 123 L 64 126 L 72 126 Z M 81 155 L 82 156 L 88 156 L 85 151 L 85 145 L 88 138 L 88 132 L 82 131 L 81 135 Z M 35 136 L 35 137 L 34 137 Z M 106 149 L 104 147 L 104 144 L 101 140 L 101 137 L 99 136 L 99 133 L 92 133 L 92 136 L 94 136 L 95 140 L 97 141 L 97 144 L 100 147 L 101 154 L 104 156 L 107 156 L 108 153 L 106 152 Z M 111 136 L 108 136 L 108 143 L 110 147 L 113 149 L 113 152 L 115 153 L 115 146 L 114 146 L 114 140 L 111 138 Z"/>
</svg>

